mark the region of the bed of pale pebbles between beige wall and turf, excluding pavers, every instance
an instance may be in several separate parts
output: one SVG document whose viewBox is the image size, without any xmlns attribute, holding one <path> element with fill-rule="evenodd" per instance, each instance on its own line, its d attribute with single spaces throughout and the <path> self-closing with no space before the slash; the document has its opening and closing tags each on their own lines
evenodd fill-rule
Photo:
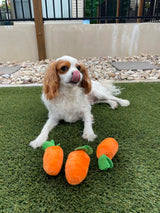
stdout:
<svg viewBox="0 0 160 213">
<path fill-rule="evenodd" d="M 11 75 L 0 75 L 0 85 L 35 85 L 42 84 L 46 72 L 46 68 L 55 59 L 46 59 L 43 61 L 25 61 L 21 63 L 0 63 L 0 66 L 18 65 L 21 68 Z M 111 62 L 150 62 L 160 67 L 160 56 L 141 55 L 134 57 L 85 57 L 78 58 L 83 63 L 93 80 L 114 80 L 115 82 L 131 82 L 131 81 L 160 81 L 160 68 L 158 70 L 121 70 L 118 71 L 111 65 Z"/>
</svg>

